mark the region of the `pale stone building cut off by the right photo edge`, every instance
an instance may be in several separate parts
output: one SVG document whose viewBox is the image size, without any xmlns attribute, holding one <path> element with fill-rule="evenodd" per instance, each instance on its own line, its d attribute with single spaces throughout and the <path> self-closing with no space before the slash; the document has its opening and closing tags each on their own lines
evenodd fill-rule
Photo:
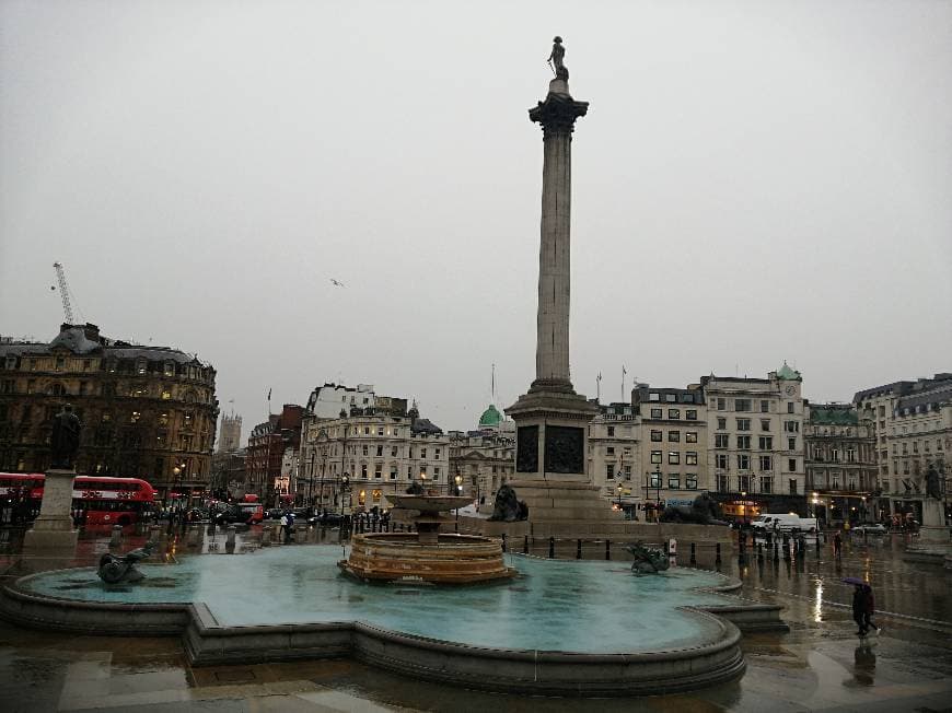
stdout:
<svg viewBox="0 0 952 713">
<path fill-rule="evenodd" d="M 952 490 L 952 373 L 864 389 L 854 405 L 873 424 L 881 507 L 921 522 L 929 466 L 939 471 L 947 501 Z"/>
</svg>

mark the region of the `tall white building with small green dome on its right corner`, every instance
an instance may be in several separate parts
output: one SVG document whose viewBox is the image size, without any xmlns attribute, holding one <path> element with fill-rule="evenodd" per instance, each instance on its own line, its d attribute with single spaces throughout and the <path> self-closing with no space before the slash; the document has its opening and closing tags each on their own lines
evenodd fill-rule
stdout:
<svg viewBox="0 0 952 713">
<path fill-rule="evenodd" d="M 767 378 L 704 376 L 711 494 L 731 518 L 808 513 L 800 372 Z"/>
</svg>

